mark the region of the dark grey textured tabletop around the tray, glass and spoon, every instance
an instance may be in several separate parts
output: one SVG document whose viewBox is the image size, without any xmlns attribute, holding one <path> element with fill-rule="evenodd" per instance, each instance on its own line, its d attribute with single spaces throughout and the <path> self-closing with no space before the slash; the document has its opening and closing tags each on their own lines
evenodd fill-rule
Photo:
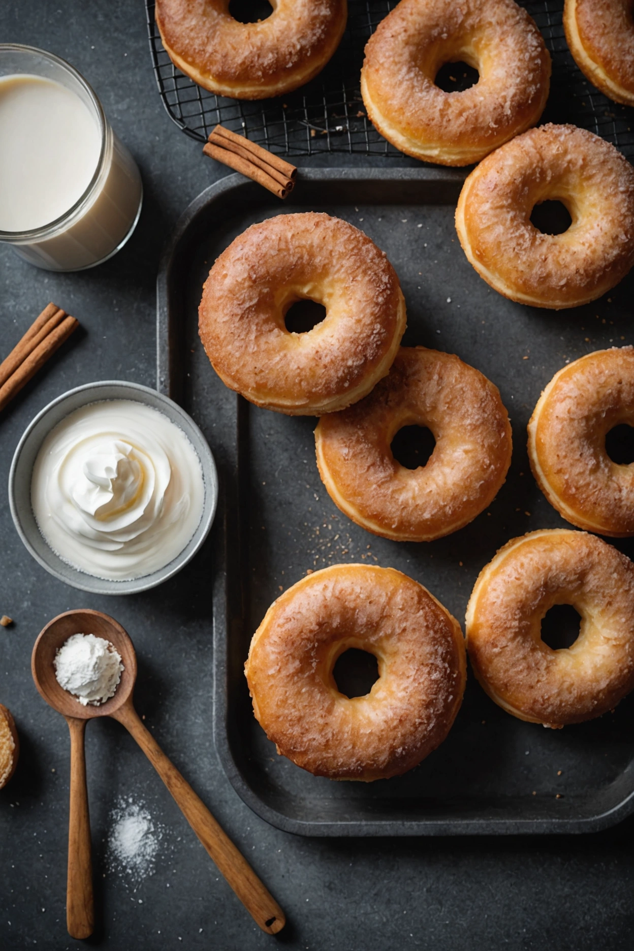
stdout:
<svg viewBox="0 0 634 951">
<path fill-rule="evenodd" d="M 93 271 L 53 276 L 0 248 L 2 355 L 49 300 L 85 328 L 0 418 L 0 485 L 6 485 L 22 431 L 50 398 L 100 378 L 154 384 L 161 247 L 186 204 L 224 169 L 203 160 L 163 112 L 141 0 L 6 2 L 0 39 L 50 49 L 84 73 L 137 159 L 145 188 L 132 240 Z M 95 722 L 86 731 L 86 751 L 97 927 L 86 944 L 117 951 L 251 951 L 275 943 L 337 951 L 631 947 L 634 820 L 577 838 L 317 841 L 279 832 L 240 802 L 211 742 L 213 538 L 155 592 L 87 598 L 32 561 L 6 500 L 0 519 L 0 613 L 15 619 L 0 629 L 0 701 L 12 709 L 22 740 L 16 775 L 0 792 L 0 947 L 81 946 L 65 927 L 67 727 L 41 700 L 29 670 L 38 631 L 73 607 L 108 611 L 130 632 L 145 722 L 288 915 L 278 939 L 261 934 L 141 751 L 117 724 Z M 109 817 L 122 797 L 143 803 L 163 830 L 155 873 L 140 882 L 107 863 Z"/>
</svg>

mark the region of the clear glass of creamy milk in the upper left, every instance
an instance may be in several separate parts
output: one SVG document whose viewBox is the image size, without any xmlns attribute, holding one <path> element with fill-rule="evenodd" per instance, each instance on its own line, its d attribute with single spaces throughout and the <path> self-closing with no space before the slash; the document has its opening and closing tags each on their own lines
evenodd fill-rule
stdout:
<svg viewBox="0 0 634 951">
<path fill-rule="evenodd" d="M 43 49 L 0 44 L 0 241 L 49 271 L 112 257 L 143 185 L 86 80 Z"/>
</svg>

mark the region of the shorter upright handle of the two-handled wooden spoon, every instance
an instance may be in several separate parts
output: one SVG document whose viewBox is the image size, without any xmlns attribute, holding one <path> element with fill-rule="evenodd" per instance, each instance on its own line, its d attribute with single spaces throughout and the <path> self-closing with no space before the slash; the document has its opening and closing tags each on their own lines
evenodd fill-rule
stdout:
<svg viewBox="0 0 634 951">
<path fill-rule="evenodd" d="M 86 720 L 66 717 L 70 730 L 70 810 L 68 817 L 68 877 L 66 921 L 72 938 L 87 938 L 94 926 L 90 820 L 86 786 L 84 733 Z"/>
</svg>

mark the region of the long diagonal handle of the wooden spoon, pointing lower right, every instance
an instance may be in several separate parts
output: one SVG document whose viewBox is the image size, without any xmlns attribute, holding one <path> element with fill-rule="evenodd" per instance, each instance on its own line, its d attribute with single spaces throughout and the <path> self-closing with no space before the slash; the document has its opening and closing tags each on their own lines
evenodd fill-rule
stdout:
<svg viewBox="0 0 634 951">
<path fill-rule="evenodd" d="M 145 756 L 176 800 L 185 819 L 262 931 L 266 931 L 269 935 L 277 934 L 286 922 L 278 902 L 259 881 L 251 865 L 222 831 L 206 805 L 203 805 L 178 769 L 167 759 L 152 734 L 144 727 L 131 703 L 125 703 L 123 707 L 114 710 L 111 716 L 123 724 L 143 749 Z"/>
</svg>

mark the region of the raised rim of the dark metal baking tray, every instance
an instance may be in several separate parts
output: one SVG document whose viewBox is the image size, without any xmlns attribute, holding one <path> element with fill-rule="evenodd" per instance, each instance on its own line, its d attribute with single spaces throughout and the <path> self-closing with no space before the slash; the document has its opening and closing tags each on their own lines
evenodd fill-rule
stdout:
<svg viewBox="0 0 634 951">
<path fill-rule="evenodd" d="M 468 171 L 446 167 L 420 168 L 298 168 L 298 184 L 306 183 L 341 183 L 350 181 L 355 183 L 382 182 L 394 183 L 427 183 L 438 182 L 443 184 L 458 184 L 464 181 Z M 169 342 L 171 331 L 171 312 L 169 306 L 170 278 L 175 259 L 181 250 L 181 244 L 186 242 L 189 232 L 200 217 L 209 212 L 210 206 L 230 197 L 240 189 L 253 187 L 248 179 L 239 173 L 224 176 L 218 182 L 209 185 L 183 211 L 178 222 L 164 246 L 163 255 L 157 275 L 157 390 L 166 396 L 179 401 L 174 395 L 176 382 L 170 362 Z M 269 196 L 272 199 L 272 196 Z M 262 198 L 267 196 L 262 193 Z M 389 203 L 387 203 L 389 204 Z M 442 204 L 442 203 L 438 203 Z M 283 204 L 279 205 L 280 212 Z M 238 401 L 240 398 L 236 396 Z M 213 737 L 214 745 L 231 786 L 240 796 L 242 802 L 256 813 L 261 819 L 284 832 L 301 836 L 315 837 L 363 837 L 378 838 L 392 836 L 463 836 L 463 835 L 559 835 L 598 832 L 622 822 L 634 812 L 634 784 L 631 792 L 624 799 L 596 815 L 582 819 L 528 819 L 528 818 L 461 818 L 455 819 L 421 819 L 417 820 L 337 820 L 314 821 L 296 819 L 288 816 L 263 802 L 257 792 L 246 782 L 236 763 L 230 748 L 226 729 L 227 717 L 227 643 L 228 643 L 228 573 L 226 570 L 227 552 L 227 511 L 226 498 L 221 485 L 219 492 L 219 512 L 217 524 L 222 526 L 221 551 L 217 556 L 213 578 L 213 646 L 214 646 L 214 688 L 213 688 Z M 631 769 L 632 767 L 629 767 Z"/>
</svg>

